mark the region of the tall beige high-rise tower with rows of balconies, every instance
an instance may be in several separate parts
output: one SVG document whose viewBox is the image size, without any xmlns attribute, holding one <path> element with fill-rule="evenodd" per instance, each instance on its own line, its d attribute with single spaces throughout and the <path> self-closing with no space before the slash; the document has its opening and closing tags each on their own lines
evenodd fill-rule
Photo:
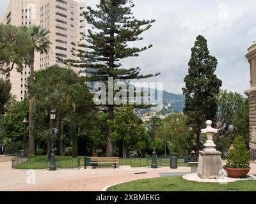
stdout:
<svg viewBox="0 0 256 204">
<path fill-rule="evenodd" d="M 85 32 L 85 18 L 82 15 L 84 8 L 84 3 L 73 0 L 11 0 L 1 21 L 3 24 L 17 26 L 40 25 L 50 31 L 47 38 L 52 43 L 51 48 L 45 54 L 35 54 L 35 71 L 54 64 L 65 67 L 56 57 L 77 59 L 73 54 L 77 42 L 82 40 L 82 33 Z M 10 64 L 6 64 L 8 66 Z M 82 74 L 84 73 L 85 70 L 82 70 Z M 10 73 L 1 73 L 0 77 L 10 80 L 12 94 L 17 101 L 21 101 L 26 96 L 29 75 L 30 66 L 24 66 L 21 73 L 14 68 Z"/>
</svg>

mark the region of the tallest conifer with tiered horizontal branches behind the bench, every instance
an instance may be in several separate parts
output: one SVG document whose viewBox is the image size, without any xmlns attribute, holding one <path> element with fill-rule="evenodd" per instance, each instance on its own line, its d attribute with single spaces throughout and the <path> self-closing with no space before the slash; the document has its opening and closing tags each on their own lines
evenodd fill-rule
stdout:
<svg viewBox="0 0 256 204">
<path fill-rule="evenodd" d="M 140 41 L 143 38 L 140 34 L 147 31 L 155 20 L 137 20 L 132 16 L 132 0 L 100 0 L 97 4 L 97 10 L 88 7 L 83 15 L 88 24 L 92 25 L 88 30 L 88 36 L 84 34 L 86 45 L 79 43 L 79 49 L 76 50 L 76 56 L 81 61 L 63 60 L 65 64 L 78 68 L 88 69 L 90 73 L 88 81 L 105 82 L 108 84 L 108 78 L 113 77 L 117 80 L 132 80 L 154 77 L 159 75 L 140 75 L 140 68 L 121 68 L 120 60 L 127 57 L 138 57 L 139 53 L 152 47 L 136 48 L 129 47 L 131 41 Z M 90 71 L 91 70 L 91 71 Z M 107 86 L 108 87 L 108 86 Z M 108 119 L 113 119 L 114 105 L 107 104 Z M 108 145 L 107 156 L 113 155 L 113 145 L 111 143 L 111 127 L 108 127 Z"/>
</svg>

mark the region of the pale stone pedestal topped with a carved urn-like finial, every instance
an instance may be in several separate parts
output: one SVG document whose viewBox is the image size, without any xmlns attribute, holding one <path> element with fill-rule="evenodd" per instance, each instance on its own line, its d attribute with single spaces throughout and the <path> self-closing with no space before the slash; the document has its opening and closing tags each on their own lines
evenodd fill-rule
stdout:
<svg viewBox="0 0 256 204">
<path fill-rule="evenodd" d="M 204 150 L 199 152 L 197 174 L 201 179 L 224 179 L 221 166 L 221 152 L 218 152 L 212 141 L 212 136 L 218 133 L 218 129 L 211 127 L 212 121 L 206 121 L 207 128 L 202 129 L 202 134 L 207 136 Z"/>
</svg>

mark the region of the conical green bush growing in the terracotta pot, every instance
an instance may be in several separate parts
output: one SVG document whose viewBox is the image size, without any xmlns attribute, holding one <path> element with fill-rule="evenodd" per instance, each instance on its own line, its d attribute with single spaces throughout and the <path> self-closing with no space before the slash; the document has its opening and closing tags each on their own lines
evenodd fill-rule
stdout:
<svg viewBox="0 0 256 204">
<path fill-rule="evenodd" d="M 250 152 L 246 148 L 243 136 L 236 136 L 233 148 L 230 149 L 227 157 L 226 167 L 228 168 L 248 168 L 250 166 Z"/>
</svg>

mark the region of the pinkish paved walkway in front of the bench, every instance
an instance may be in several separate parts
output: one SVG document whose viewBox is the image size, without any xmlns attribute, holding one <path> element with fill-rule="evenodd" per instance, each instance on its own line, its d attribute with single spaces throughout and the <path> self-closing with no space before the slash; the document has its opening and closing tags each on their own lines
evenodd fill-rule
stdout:
<svg viewBox="0 0 256 204">
<path fill-rule="evenodd" d="M 256 164 L 251 164 L 251 166 L 250 174 L 256 174 Z M 151 169 L 120 166 L 116 169 L 13 170 L 10 159 L 0 158 L 0 191 L 102 191 L 106 186 L 122 182 L 186 172 L 189 173 L 190 168 L 184 167 L 172 170 L 170 168 Z M 33 181 L 35 181 L 35 184 L 33 184 Z"/>
</svg>

